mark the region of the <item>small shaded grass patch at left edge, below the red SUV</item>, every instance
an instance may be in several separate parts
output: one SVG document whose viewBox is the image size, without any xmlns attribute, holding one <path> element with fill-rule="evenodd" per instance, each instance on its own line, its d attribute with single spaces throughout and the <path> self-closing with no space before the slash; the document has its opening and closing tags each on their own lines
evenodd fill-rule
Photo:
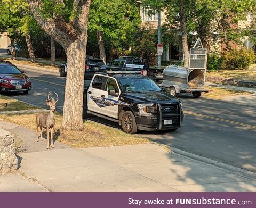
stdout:
<svg viewBox="0 0 256 208">
<path fill-rule="evenodd" d="M 21 111 L 21 110 L 34 110 L 34 109 L 37 109 L 37 107 L 19 102 L 8 96 L 0 95 L 0 111 Z"/>
</svg>

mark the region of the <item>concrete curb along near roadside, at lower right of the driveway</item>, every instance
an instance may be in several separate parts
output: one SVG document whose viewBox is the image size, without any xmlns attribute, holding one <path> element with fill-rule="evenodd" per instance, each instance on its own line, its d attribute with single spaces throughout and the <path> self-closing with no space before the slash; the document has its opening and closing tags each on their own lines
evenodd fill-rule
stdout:
<svg viewBox="0 0 256 208">
<path fill-rule="evenodd" d="M 199 155 L 196 155 L 196 154 L 193 154 L 193 153 L 182 151 L 181 149 L 177 149 L 177 148 L 170 147 L 170 146 L 167 146 L 167 145 L 159 144 L 159 143 L 156 143 L 156 142 L 150 142 L 150 143 L 161 146 L 162 148 L 165 149 L 165 151 L 167 151 L 171 154 L 179 155 L 179 156 L 182 156 L 182 157 L 187 157 L 187 158 L 189 158 L 191 160 L 195 160 L 197 162 L 202 162 L 202 163 L 206 163 L 206 164 L 209 164 L 209 165 L 213 165 L 214 167 L 216 167 L 218 169 L 236 174 L 237 176 L 241 176 L 241 177 L 244 177 L 244 178 L 247 178 L 247 179 L 250 179 L 250 180 L 255 180 L 256 179 L 256 173 L 254 173 L 254 172 L 244 170 L 242 168 L 237 168 L 237 167 L 234 167 L 232 165 L 228 165 L 228 164 L 225 164 L 225 163 L 222 163 L 222 162 L 219 162 L 219 161 L 215 161 L 215 160 L 212 160 L 212 159 L 208 159 L 206 157 L 199 156 Z"/>
</svg>

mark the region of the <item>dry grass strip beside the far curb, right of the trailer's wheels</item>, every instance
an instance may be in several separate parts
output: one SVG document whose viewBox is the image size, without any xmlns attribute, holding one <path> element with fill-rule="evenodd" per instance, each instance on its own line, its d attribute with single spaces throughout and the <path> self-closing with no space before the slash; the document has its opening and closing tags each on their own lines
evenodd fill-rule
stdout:
<svg viewBox="0 0 256 208">
<path fill-rule="evenodd" d="M 225 88 L 220 88 L 220 87 L 210 87 L 207 86 L 205 89 L 210 89 L 213 90 L 209 93 L 204 93 L 204 95 L 213 95 L 213 96 L 235 96 L 235 95 L 251 95 L 252 93 L 247 92 L 247 91 L 239 91 L 235 89 L 225 89 Z"/>
</svg>

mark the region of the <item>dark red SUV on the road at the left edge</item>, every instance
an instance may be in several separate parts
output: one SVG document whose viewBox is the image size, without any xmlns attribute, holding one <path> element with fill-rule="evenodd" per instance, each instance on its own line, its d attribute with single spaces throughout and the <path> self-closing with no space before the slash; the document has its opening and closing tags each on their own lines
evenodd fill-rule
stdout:
<svg viewBox="0 0 256 208">
<path fill-rule="evenodd" d="M 23 91 L 28 94 L 32 89 L 31 80 L 9 61 L 0 60 L 0 92 Z"/>
</svg>

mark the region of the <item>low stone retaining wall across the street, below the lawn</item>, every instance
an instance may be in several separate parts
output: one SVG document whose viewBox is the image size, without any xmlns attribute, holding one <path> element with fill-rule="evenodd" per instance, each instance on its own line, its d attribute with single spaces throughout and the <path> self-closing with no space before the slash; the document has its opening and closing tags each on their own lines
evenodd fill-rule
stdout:
<svg viewBox="0 0 256 208">
<path fill-rule="evenodd" d="M 223 84 L 223 85 L 234 85 L 234 86 L 241 86 L 241 87 L 256 88 L 255 81 L 242 81 L 242 80 L 227 79 L 227 78 L 212 77 L 212 76 L 206 76 L 205 81 L 211 82 L 211 83 Z"/>
</svg>

